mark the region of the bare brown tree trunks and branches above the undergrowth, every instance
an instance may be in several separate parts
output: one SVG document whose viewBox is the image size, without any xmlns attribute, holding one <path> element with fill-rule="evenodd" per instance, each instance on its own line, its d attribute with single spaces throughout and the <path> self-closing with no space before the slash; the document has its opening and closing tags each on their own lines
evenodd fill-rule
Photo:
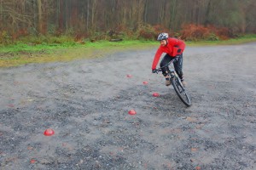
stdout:
<svg viewBox="0 0 256 170">
<path fill-rule="evenodd" d="M 256 32 L 255 0 L 0 0 L 0 31 L 82 33 L 144 24 L 179 31 L 183 24 Z"/>
</svg>

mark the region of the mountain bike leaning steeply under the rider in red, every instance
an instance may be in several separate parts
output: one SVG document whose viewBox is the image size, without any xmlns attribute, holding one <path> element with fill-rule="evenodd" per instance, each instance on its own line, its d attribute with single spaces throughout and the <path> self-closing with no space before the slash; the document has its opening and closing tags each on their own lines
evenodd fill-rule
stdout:
<svg viewBox="0 0 256 170">
<path fill-rule="evenodd" d="M 172 59 L 167 65 L 162 66 L 160 68 L 156 69 L 156 73 L 158 74 L 159 71 L 162 71 L 162 68 L 166 67 L 167 69 L 167 75 L 171 77 L 172 86 L 179 97 L 183 101 L 183 104 L 190 106 L 191 99 L 189 97 L 188 92 L 186 92 L 185 88 L 183 87 L 183 84 L 180 80 L 180 78 L 177 76 L 177 72 L 174 69 L 173 62 L 176 61 L 177 58 Z"/>
</svg>

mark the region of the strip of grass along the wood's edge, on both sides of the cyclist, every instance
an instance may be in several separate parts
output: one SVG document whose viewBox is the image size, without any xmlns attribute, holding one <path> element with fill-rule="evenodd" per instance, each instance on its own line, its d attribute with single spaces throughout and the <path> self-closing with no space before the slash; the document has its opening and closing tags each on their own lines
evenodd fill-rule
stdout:
<svg viewBox="0 0 256 170">
<path fill-rule="evenodd" d="M 58 42 L 58 40 L 54 40 Z M 236 39 L 225 41 L 199 41 L 186 42 L 187 46 L 204 45 L 230 45 L 245 42 L 256 42 L 256 35 L 246 35 Z M 16 42 L 15 45 L 0 46 L 0 67 L 26 65 L 29 63 L 66 62 L 73 59 L 90 59 L 102 57 L 123 50 L 141 50 L 157 48 L 157 41 L 127 40 L 121 42 L 65 42 L 61 39 L 58 43 L 43 42 L 41 44 L 31 42 Z"/>
</svg>

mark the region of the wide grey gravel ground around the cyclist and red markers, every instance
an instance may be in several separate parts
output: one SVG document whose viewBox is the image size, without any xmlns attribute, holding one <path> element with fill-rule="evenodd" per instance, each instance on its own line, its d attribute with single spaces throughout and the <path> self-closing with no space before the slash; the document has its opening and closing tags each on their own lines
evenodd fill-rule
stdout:
<svg viewBox="0 0 256 170">
<path fill-rule="evenodd" d="M 256 169 L 256 43 L 186 48 L 190 107 L 155 50 L 0 68 L 0 169 Z"/>
</svg>

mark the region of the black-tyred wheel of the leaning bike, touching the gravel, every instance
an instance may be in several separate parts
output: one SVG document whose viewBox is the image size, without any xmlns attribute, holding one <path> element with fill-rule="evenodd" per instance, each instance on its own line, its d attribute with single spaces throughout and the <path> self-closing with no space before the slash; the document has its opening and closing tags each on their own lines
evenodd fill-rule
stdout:
<svg viewBox="0 0 256 170">
<path fill-rule="evenodd" d="M 191 105 L 191 99 L 189 98 L 189 94 L 185 91 L 185 88 L 183 88 L 183 85 L 178 80 L 177 77 L 171 78 L 172 86 L 179 97 L 183 101 L 183 104 L 190 106 Z"/>
</svg>

